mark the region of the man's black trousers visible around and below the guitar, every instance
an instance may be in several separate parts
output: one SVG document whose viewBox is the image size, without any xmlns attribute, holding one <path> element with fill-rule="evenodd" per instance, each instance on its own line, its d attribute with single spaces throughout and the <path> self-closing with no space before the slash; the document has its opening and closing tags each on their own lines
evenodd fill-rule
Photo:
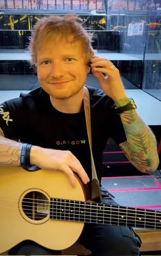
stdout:
<svg viewBox="0 0 161 256">
<path fill-rule="evenodd" d="M 106 205 L 117 205 L 111 194 L 102 188 L 102 198 Z M 44 234 L 44 239 L 48 239 Z M 108 224 L 85 224 L 78 239 L 91 256 L 138 256 L 141 240 L 127 226 Z M 24 241 L 12 248 L 10 255 L 61 255 L 60 251 L 52 251 L 32 241 Z"/>
</svg>

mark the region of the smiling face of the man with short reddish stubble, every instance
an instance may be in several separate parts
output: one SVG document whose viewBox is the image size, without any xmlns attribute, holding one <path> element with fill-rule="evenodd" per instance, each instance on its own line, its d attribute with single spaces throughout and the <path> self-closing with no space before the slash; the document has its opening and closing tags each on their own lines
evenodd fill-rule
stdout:
<svg viewBox="0 0 161 256">
<path fill-rule="evenodd" d="M 80 42 L 65 39 L 42 44 L 37 52 L 38 80 L 42 89 L 56 99 L 72 97 L 83 88 L 89 67 Z"/>
</svg>

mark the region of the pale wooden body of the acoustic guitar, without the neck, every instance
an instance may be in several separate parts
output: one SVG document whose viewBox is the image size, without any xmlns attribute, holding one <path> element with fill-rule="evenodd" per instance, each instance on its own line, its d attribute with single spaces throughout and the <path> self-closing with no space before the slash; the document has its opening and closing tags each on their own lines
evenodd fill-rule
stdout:
<svg viewBox="0 0 161 256">
<path fill-rule="evenodd" d="M 35 196 L 45 198 L 43 207 L 36 205 Z M 86 200 L 77 177 L 76 187 L 72 187 L 68 177 L 59 171 L 0 169 L 0 253 L 23 240 L 33 240 L 53 250 L 68 248 L 78 240 L 84 223 L 50 220 L 50 198 Z"/>
</svg>

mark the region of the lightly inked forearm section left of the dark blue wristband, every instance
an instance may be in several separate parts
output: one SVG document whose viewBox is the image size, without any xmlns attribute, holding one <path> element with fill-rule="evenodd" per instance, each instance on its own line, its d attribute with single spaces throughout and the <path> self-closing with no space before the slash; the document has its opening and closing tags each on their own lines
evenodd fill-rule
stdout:
<svg viewBox="0 0 161 256">
<path fill-rule="evenodd" d="M 0 128 L 0 165 L 20 165 L 20 151 L 22 143 L 5 138 Z"/>
</svg>

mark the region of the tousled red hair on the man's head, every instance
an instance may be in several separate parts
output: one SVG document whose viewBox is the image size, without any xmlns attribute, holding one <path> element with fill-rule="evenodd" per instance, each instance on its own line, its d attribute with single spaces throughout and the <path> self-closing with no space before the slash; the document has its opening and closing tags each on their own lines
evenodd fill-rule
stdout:
<svg viewBox="0 0 161 256">
<path fill-rule="evenodd" d="M 80 41 L 83 51 L 89 62 L 91 56 L 94 55 L 91 46 L 93 34 L 87 32 L 82 24 L 82 19 L 75 15 L 65 16 L 46 16 L 40 19 L 33 27 L 29 42 L 29 54 L 31 56 L 31 64 L 36 65 L 36 55 L 39 47 L 49 38 L 55 42 L 65 38 L 69 43 Z M 72 41 L 71 41 L 72 38 Z"/>
</svg>

